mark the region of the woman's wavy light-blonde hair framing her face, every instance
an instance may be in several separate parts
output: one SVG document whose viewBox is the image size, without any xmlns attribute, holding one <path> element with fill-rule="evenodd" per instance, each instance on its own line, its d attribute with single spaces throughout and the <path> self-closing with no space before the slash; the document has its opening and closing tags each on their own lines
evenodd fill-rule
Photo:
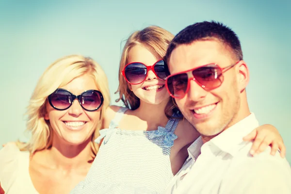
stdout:
<svg viewBox="0 0 291 194">
<path fill-rule="evenodd" d="M 104 113 L 110 103 L 110 94 L 107 77 L 94 60 L 81 55 L 70 55 L 58 59 L 45 70 L 36 84 L 27 107 L 27 131 L 31 132 L 31 139 L 27 143 L 18 142 L 20 150 L 29 150 L 31 153 L 48 149 L 52 145 L 52 129 L 49 121 L 44 119 L 48 96 L 57 88 L 63 87 L 73 79 L 89 73 L 96 81 L 98 90 L 102 93 L 104 101 L 100 112 L 100 122 L 92 134 L 92 151 L 95 157 L 98 145 L 94 140 L 99 136 L 99 129 Z"/>
</svg>

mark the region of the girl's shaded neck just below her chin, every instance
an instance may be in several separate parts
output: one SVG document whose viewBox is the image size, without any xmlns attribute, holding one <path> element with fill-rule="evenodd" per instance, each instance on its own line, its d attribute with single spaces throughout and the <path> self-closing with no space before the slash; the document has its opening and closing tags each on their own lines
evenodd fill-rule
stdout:
<svg viewBox="0 0 291 194">
<path fill-rule="evenodd" d="M 148 122 L 161 123 L 163 120 L 168 120 L 165 114 L 165 108 L 168 104 L 169 98 L 162 101 L 160 104 L 149 104 L 141 101 L 140 106 L 135 110 L 136 115 Z"/>
</svg>

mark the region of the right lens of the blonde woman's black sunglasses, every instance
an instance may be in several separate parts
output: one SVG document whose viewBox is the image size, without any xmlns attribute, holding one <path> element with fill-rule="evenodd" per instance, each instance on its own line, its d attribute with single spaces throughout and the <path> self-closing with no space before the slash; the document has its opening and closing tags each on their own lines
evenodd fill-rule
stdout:
<svg viewBox="0 0 291 194">
<path fill-rule="evenodd" d="M 102 105 L 103 96 L 99 91 L 89 90 L 81 95 L 80 101 L 84 109 L 94 111 Z"/>
</svg>

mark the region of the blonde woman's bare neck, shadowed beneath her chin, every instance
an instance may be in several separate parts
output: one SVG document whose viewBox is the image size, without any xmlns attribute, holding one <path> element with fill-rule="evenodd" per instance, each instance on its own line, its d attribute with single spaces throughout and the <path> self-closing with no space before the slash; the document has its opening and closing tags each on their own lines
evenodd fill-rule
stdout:
<svg viewBox="0 0 291 194">
<path fill-rule="evenodd" d="M 74 169 L 92 162 L 90 138 L 81 145 L 69 145 L 56 139 L 48 149 L 51 168 Z"/>
</svg>

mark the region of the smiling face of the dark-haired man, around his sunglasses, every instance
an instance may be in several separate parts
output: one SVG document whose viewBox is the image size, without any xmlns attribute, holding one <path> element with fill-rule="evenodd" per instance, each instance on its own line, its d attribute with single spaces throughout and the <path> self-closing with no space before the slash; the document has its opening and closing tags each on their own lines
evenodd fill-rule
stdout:
<svg viewBox="0 0 291 194">
<path fill-rule="evenodd" d="M 171 74 L 175 74 L 211 63 L 224 68 L 236 62 L 224 44 L 216 39 L 210 39 L 194 41 L 175 48 L 169 59 L 169 70 Z M 176 98 L 183 115 L 202 136 L 219 134 L 232 125 L 239 113 L 241 103 L 237 73 L 239 65 L 223 74 L 224 81 L 218 88 L 205 90 L 192 80 L 186 96 Z"/>
</svg>

